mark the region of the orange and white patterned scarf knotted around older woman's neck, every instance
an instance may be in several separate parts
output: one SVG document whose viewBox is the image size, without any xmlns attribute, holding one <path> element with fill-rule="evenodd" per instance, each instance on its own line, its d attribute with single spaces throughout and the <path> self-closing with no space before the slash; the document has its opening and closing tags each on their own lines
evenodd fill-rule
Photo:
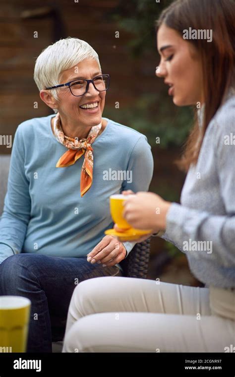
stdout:
<svg viewBox="0 0 235 377">
<path fill-rule="evenodd" d="M 81 171 L 81 183 L 80 191 L 81 196 L 83 196 L 92 185 L 93 176 L 93 149 L 91 144 L 100 132 L 102 124 L 98 126 L 93 126 L 86 139 L 76 140 L 72 137 L 65 136 L 61 127 L 60 116 L 57 113 L 54 120 L 54 133 L 59 141 L 66 148 L 69 148 L 58 160 L 56 168 L 64 168 L 66 166 L 73 165 L 84 153 L 85 158 L 82 164 Z"/>
</svg>

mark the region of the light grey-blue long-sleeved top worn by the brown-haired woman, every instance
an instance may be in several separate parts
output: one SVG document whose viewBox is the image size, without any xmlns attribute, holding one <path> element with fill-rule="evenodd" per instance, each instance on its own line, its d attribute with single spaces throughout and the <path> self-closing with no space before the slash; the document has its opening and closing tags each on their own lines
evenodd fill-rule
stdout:
<svg viewBox="0 0 235 377">
<path fill-rule="evenodd" d="M 204 109 L 198 110 L 202 126 Z M 162 238 L 185 252 L 206 287 L 235 287 L 235 91 L 207 127 L 199 158 L 187 173 L 180 204 L 167 213 Z"/>
</svg>

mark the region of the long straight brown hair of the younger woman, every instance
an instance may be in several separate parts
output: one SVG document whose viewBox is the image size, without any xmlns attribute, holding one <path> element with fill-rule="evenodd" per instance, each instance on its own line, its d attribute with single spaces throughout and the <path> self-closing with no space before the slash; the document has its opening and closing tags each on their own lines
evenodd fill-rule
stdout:
<svg viewBox="0 0 235 377">
<path fill-rule="evenodd" d="M 189 39 L 196 47 L 203 71 L 204 119 L 199 139 L 199 125 L 195 109 L 195 122 L 184 145 L 177 165 L 187 171 L 195 164 L 206 128 L 223 103 L 231 86 L 235 84 L 235 2 L 234 0 L 176 0 L 163 10 L 156 21 L 175 29 L 181 36 L 183 30 L 212 29 L 212 41 Z"/>
</svg>

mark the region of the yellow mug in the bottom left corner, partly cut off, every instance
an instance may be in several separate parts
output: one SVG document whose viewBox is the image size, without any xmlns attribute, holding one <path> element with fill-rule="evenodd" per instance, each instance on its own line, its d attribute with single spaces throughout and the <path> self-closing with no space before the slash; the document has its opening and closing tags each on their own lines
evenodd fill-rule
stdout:
<svg viewBox="0 0 235 377">
<path fill-rule="evenodd" d="M 0 353 L 26 352 L 31 301 L 0 296 Z"/>
</svg>

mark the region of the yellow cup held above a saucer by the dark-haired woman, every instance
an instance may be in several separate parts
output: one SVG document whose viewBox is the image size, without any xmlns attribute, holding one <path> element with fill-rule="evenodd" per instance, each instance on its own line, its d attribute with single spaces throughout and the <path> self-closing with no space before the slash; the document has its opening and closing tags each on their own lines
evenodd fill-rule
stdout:
<svg viewBox="0 0 235 377">
<path fill-rule="evenodd" d="M 123 202 L 129 195 L 115 194 L 110 196 L 110 213 L 112 219 L 117 224 L 118 228 L 130 229 L 130 224 L 123 218 L 122 213 L 124 210 Z"/>
</svg>

